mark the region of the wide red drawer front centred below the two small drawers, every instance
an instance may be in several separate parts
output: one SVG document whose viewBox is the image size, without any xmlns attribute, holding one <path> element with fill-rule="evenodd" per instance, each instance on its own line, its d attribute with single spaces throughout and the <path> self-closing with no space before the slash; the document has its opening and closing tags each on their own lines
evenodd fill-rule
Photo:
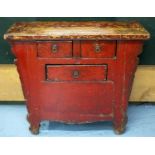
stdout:
<svg viewBox="0 0 155 155">
<path fill-rule="evenodd" d="M 106 65 L 46 65 L 46 79 L 50 81 L 106 80 Z"/>
</svg>

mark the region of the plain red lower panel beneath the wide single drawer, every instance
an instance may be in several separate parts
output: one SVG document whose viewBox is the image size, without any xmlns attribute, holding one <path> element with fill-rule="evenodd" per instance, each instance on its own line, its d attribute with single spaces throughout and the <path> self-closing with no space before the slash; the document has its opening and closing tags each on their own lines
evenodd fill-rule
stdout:
<svg viewBox="0 0 155 155">
<path fill-rule="evenodd" d="M 43 114 L 103 115 L 112 113 L 113 82 L 52 82 L 40 90 Z M 53 118 L 54 119 L 54 118 Z M 74 118 L 71 118 L 74 120 Z"/>
</svg>

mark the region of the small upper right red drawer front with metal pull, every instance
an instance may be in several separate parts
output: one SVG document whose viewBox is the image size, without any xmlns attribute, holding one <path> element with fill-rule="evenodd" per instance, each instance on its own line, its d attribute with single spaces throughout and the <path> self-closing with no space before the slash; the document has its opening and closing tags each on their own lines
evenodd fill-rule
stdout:
<svg viewBox="0 0 155 155">
<path fill-rule="evenodd" d="M 86 58 L 112 58 L 116 41 L 81 41 L 81 56 Z"/>
</svg>

